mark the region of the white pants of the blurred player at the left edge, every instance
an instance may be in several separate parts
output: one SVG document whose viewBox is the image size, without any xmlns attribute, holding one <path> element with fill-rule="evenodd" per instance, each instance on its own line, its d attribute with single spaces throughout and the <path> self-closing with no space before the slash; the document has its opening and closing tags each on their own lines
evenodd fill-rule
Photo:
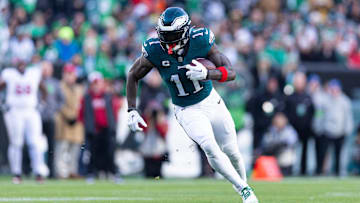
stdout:
<svg viewBox="0 0 360 203">
<path fill-rule="evenodd" d="M 9 136 L 8 158 L 12 174 L 22 173 L 22 148 L 26 140 L 33 172 L 45 176 L 44 154 L 39 145 L 42 135 L 39 112 L 33 108 L 12 108 L 5 113 L 5 123 Z"/>
</svg>

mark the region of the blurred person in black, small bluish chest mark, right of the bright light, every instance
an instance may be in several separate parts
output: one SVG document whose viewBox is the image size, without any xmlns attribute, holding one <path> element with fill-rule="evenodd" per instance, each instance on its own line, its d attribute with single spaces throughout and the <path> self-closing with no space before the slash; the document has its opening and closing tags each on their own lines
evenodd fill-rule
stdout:
<svg viewBox="0 0 360 203">
<path fill-rule="evenodd" d="M 300 174 L 306 175 L 308 140 L 312 137 L 312 121 L 314 116 L 314 104 L 311 97 L 306 93 L 306 75 L 296 72 L 293 86 L 295 92 L 286 98 L 285 112 L 290 124 L 295 128 L 299 140 L 302 143 Z"/>
</svg>

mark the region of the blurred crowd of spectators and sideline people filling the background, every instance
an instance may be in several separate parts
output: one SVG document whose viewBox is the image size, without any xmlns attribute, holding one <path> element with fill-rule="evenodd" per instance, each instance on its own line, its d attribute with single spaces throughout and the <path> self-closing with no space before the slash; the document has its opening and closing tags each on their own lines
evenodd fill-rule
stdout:
<svg viewBox="0 0 360 203">
<path fill-rule="evenodd" d="M 18 60 L 45 70 L 49 96 L 40 110 L 50 176 L 77 177 L 81 170 L 89 180 L 98 170 L 119 175 L 115 135 L 117 123 L 125 122 L 117 114 L 124 108 L 126 74 L 142 42 L 156 36 L 157 18 L 168 6 L 184 7 L 194 26 L 209 27 L 236 68 L 238 79 L 216 88 L 237 131 L 252 129 L 253 160 L 276 156 L 291 175 L 301 159 L 306 174 L 313 139 L 316 173 L 330 170 L 329 146 L 340 173 L 344 139 L 354 131 L 351 101 L 339 80 L 307 75 L 301 63 L 360 68 L 359 1 L 0 0 L 0 70 Z M 161 176 L 169 95 L 156 71 L 143 80 L 139 105 L 149 124 L 137 147 L 145 174 Z M 354 145 L 359 148 L 359 139 Z M 360 171 L 358 153 L 351 171 Z"/>
</svg>

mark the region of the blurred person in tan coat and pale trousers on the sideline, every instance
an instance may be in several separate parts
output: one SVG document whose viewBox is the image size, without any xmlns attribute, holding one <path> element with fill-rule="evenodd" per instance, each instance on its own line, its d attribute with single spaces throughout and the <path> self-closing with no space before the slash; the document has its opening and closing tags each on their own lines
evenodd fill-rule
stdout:
<svg viewBox="0 0 360 203">
<path fill-rule="evenodd" d="M 84 133 L 83 125 L 77 120 L 83 88 L 76 84 L 76 78 L 75 66 L 66 64 L 60 84 L 65 102 L 55 117 L 55 166 L 59 178 L 78 176 L 79 153 Z"/>
</svg>

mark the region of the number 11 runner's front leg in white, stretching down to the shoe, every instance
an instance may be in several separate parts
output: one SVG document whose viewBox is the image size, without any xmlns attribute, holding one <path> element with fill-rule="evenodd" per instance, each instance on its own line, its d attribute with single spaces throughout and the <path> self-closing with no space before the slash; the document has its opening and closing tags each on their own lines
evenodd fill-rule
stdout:
<svg viewBox="0 0 360 203">
<path fill-rule="evenodd" d="M 175 110 L 176 111 L 176 110 Z M 247 186 L 232 166 L 229 158 L 216 143 L 210 120 L 200 110 L 184 109 L 176 113 L 178 122 L 186 134 L 200 145 L 211 167 L 223 175 L 237 188 Z"/>
</svg>

